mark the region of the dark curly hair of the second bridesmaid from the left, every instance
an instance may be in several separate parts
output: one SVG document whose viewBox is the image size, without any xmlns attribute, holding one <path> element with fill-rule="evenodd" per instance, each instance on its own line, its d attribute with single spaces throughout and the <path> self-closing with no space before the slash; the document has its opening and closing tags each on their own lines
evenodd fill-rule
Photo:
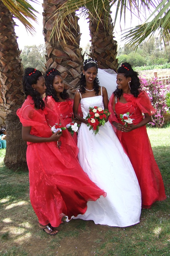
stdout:
<svg viewBox="0 0 170 256">
<path fill-rule="evenodd" d="M 60 99 L 56 95 L 55 89 L 53 88 L 53 81 L 56 76 L 61 76 L 61 74 L 58 70 L 56 70 L 54 68 L 49 68 L 44 74 L 44 78 L 46 81 L 46 88 L 47 88 L 45 100 L 47 100 L 47 96 L 52 96 L 56 102 L 60 101 Z M 60 97 L 62 99 L 69 98 L 69 94 L 67 93 L 67 90 L 65 88 L 64 88 L 63 92 L 60 92 Z"/>
</svg>

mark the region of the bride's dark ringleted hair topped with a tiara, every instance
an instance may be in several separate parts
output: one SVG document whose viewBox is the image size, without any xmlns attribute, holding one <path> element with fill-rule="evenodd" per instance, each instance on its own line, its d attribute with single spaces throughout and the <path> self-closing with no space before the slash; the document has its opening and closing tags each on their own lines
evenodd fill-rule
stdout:
<svg viewBox="0 0 170 256">
<path fill-rule="evenodd" d="M 83 63 L 83 70 L 87 71 L 87 69 L 89 69 L 90 67 L 96 67 L 96 69 L 98 70 L 97 61 L 95 61 L 94 59 L 86 59 Z M 79 84 L 80 84 L 80 92 L 82 94 L 86 93 L 86 90 L 85 90 L 86 78 L 83 75 L 83 73 L 81 74 Z M 100 91 L 99 91 L 99 79 L 97 77 L 94 79 L 93 87 L 94 87 L 94 91 L 96 92 L 95 94 L 98 95 Z"/>
</svg>

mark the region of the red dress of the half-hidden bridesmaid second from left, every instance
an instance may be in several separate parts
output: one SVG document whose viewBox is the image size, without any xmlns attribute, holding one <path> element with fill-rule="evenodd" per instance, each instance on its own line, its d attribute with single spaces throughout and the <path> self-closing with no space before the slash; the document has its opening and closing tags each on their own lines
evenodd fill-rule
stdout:
<svg viewBox="0 0 170 256">
<path fill-rule="evenodd" d="M 47 97 L 47 101 L 44 100 L 45 105 L 53 110 L 54 112 L 59 113 L 63 119 L 63 126 L 70 124 L 73 118 L 73 99 L 66 99 L 66 101 L 56 102 L 52 96 Z M 81 108 L 79 108 L 79 112 L 81 113 Z M 81 114 L 80 114 L 81 115 Z M 83 114 L 82 114 L 83 116 Z M 73 135 L 74 142 L 77 145 L 77 133 L 74 132 Z"/>
</svg>

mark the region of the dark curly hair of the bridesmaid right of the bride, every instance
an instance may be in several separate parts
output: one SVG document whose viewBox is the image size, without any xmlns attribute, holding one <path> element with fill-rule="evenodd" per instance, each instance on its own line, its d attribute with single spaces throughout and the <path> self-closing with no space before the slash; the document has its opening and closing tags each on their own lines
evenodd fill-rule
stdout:
<svg viewBox="0 0 170 256">
<path fill-rule="evenodd" d="M 142 90 L 141 83 L 138 77 L 139 73 L 134 71 L 129 63 L 124 62 L 121 64 L 121 67 L 118 68 L 117 74 L 123 74 L 124 77 L 126 78 L 131 77 L 131 84 L 130 84 L 131 94 L 133 94 L 133 96 L 137 98 L 140 91 Z M 118 98 L 120 98 L 122 93 L 123 93 L 122 89 L 117 88 L 114 91 L 114 96 L 117 96 Z"/>
</svg>

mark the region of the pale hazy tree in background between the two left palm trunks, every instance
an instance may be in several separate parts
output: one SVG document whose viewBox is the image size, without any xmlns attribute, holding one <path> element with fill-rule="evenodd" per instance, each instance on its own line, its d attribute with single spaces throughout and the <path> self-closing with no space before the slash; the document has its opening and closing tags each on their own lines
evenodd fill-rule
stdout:
<svg viewBox="0 0 170 256">
<path fill-rule="evenodd" d="M 24 46 L 21 52 L 22 65 L 25 68 L 34 67 L 44 72 L 46 63 L 46 46 L 45 44 Z"/>
</svg>

